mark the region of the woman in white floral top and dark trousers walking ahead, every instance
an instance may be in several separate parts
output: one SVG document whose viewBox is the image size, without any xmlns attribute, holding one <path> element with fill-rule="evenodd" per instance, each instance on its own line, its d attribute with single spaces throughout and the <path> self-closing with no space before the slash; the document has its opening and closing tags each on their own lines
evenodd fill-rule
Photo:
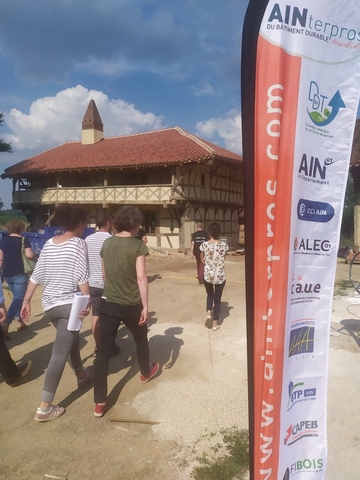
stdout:
<svg viewBox="0 0 360 480">
<path fill-rule="evenodd" d="M 226 242 L 219 240 L 220 225 L 216 222 L 209 225 L 210 240 L 200 245 L 201 258 L 205 264 L 204 285 L 206 298 L 205 326 L 214 331 L 219 329 L 221 296 L 226 283 L 225 256 L 229 250 Z"/>
</svg>

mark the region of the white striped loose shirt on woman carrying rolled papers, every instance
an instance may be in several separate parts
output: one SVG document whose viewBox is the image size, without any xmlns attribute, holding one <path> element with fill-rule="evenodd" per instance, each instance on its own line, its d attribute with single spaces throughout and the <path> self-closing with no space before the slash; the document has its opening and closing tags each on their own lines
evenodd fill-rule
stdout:
<svg viewBox="0 0 360 480">
<path fill-rule="evenodd" d="M 89 281 L 85 241 L 74 237 L 57 245 L 50 238 L 41 250 L 30 281 L 43 286 L 44 311 L 72 303 L 78 286 Z"/>
</svg>

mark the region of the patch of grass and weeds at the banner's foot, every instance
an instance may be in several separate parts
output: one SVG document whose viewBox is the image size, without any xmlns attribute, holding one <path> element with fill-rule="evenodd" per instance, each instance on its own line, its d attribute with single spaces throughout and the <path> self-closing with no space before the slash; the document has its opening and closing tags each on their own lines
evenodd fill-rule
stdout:
<svg viewBox="0 0 360 480">
<path fill-rule="evenodd" d="M 220 430 L 221 442 L 197 458 L 194 480 L 243 480 L 249 470 L 249 434 L 236 427 Z M 210 436 L 213 436 L 210 434 Z"/>
</svg>

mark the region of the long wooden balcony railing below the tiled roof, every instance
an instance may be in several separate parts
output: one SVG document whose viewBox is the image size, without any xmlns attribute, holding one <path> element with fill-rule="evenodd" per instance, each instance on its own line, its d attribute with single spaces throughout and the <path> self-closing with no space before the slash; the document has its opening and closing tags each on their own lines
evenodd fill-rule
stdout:
<svg viewBox="0 0 360 480">
<path fill-rule="evenodd" d="M 177 197 L 181 199 L 181 197 Z M 58 187 L 13 192 L 14 208 L 27 205 L 77 204 L 175 204 L 172 185 L 127 185 L 115 187 Z"/>
</svg>

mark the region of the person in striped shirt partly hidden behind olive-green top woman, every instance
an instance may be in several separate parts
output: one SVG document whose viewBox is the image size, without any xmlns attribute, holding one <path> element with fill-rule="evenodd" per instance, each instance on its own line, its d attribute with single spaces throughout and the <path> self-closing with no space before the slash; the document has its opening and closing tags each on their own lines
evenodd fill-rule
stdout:
<svg viewBox="0 0 360 480">
<path fill-rule="evenodd" d="M 104 279 L 102 273 L 102 263 L 100 250 L 105 240 L 111 237 L 112 218 L 108 213 L 100 213 L 96 219 L 96 227 L 98 230 L 85 238 L 88 251 L 89 268 L 90 268 L 90 299 L 92 307 L 91 328 L 95 340 L 94 357 L 96 357 L 99 343 L 99 306 L 102 294 L 104 292 Z M 114 343 L 111 353 L 113 355 L 119 353 L 120 348 Z"/>
</svg>

